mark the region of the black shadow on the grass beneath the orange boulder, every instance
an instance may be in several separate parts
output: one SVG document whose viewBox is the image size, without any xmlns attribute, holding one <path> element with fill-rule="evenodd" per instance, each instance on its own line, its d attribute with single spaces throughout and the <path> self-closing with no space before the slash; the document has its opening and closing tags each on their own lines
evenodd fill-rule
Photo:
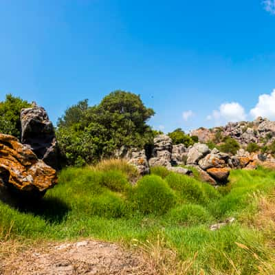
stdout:
<svg viewBox="0 0 275 275">
<path fill-rule="evenodd" d="M 0 190 L 0 200 L 21 213 L 31 213 L 50 223 L 61 223 L 71 210 L 58 197 L 22 197 L 9 190 Z"/>
</svg>

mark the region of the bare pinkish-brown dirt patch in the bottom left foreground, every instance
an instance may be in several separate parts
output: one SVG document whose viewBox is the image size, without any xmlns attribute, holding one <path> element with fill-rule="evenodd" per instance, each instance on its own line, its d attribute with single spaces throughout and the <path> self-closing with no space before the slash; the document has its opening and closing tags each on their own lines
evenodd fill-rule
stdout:
<svg viewBox="0 0 275 275">
<path fill-rule="evenodd" d="M 80 241 L 32 248 L 0 263 L 1 275 L 155 274 L 141 255 L 114 243 Z"/>
</svg>

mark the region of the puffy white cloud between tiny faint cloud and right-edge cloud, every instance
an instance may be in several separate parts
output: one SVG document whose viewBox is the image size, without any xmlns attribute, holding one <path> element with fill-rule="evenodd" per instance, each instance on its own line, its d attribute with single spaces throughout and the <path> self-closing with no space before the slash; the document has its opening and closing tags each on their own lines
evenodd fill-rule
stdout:
<svg viewBox="0 0 275 275">
<path fill-rule="evenodd" d="M 238 102 L 221 104 L 219 110 L 212 111 L 212 114 L 206 117 L 207 120 L 214 120 L 216 124 L 237 122 L 245 118 L 245 109 Z"/>
</svg>

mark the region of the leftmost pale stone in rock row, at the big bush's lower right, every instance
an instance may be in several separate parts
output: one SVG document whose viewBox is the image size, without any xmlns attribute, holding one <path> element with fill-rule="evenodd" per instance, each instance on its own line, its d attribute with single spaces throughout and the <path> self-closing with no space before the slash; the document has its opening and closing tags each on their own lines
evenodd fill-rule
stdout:
<svg viewBox="0 0 275 275">
<path fill-rule="evenodd" d="M 131 150 L 126 153 L 124 158 L 129 162 L 129 164 L 133 164 L 133 166 L 137 168 L 140 175 L 147 175 L 150 173 L 145 150 L 131 148 Z"/>
</svg>

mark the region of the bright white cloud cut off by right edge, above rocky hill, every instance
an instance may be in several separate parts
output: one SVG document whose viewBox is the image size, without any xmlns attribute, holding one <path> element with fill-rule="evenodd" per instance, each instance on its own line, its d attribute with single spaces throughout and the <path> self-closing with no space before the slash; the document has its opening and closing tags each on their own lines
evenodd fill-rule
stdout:
<svg viewBox="0 0 275 275">
<path fill-rule="evenodd" d="M 262 94 L 259 96 L 256 107 L 250 110 L 253 118 L 263 116 L 270 120 L 275 120 L 275 89 L 271 94 Z"/>
</svg>

